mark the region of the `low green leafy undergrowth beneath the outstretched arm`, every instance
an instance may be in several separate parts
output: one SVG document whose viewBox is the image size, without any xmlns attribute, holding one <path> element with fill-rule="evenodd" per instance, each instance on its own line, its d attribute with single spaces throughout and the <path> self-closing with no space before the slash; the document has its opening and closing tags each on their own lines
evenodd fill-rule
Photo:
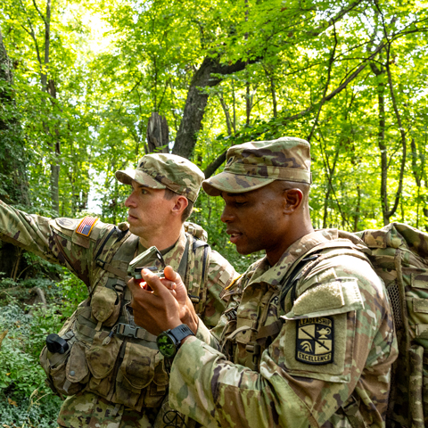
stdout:
<svg viewBox="0 0 428 428">
<path fill-rule="evenodd" d="M 78 303 L 86 286 L 70 273 L 61 282 L 44 277 L 13 283 L 0 281 L 0 428 L 56 428 L 62 401 L 45 385 L 38 356 L 45 337 L 57 333 Z M 40 288 L 47 308 L 28 305 L 29 290 Z M 16 292 L 18 290 L 19 292 Z M 2 334 L 3 333 L 3 334 Z"/>
</svg>

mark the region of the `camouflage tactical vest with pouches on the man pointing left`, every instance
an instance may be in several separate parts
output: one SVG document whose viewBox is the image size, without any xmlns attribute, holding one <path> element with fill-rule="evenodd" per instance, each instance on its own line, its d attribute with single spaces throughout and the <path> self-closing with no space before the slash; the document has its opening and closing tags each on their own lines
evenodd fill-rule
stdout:
<svg viewBox="0 0 428 428">
<path fill-rule="evenodd" d="M 198 239 L 206 237 L 200 226 L 185 226 L 185 251 L 177 270 L 199 314 L 207 299 L 204 284 L 210 247 Z M 137 411 L 161 405 L 169 375 L 157 349 L 156 336 L 135 325 L 127 308 L 131 300 L 126 286 L 127 269 L 137 249 L 136 235 L 128 231 L 118 237 L 117 230 L 111 229 L 95 255 L 101 269 L 89 290 L 90 296 L 78 305 L 59 333 L 68 350 L 42 350 L 40 363 L 47 375 L 46 383 L 61 397 L 90 391 Z"/>
</svg>

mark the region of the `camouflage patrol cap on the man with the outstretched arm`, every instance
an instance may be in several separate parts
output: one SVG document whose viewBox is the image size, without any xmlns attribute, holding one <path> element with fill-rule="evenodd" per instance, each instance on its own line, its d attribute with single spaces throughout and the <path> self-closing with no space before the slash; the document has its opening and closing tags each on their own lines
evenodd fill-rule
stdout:
<svg viewBox="0 0 428 428">
<path fill-rule="evenodd" d="M 169 153 L 146 154 L 136 169 L 116 171 L 120 183 L 131 185 L 135 180 L 152 189 L 172 190 L 195 202 L 203 180 L 202 170 L 181 156 Z"/>
</svg>

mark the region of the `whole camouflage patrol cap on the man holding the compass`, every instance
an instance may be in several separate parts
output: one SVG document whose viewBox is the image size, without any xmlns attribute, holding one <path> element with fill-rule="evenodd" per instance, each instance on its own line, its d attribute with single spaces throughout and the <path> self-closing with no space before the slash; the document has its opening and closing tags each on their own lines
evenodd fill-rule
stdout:
<svg viewBox="0 0 428 428">
<path fill-rule="evenodd" d="M 272 141 L 234 145 L 227 151 L 226 167 L 202 183 L 211 196 L 243 193 L 275 180 L 311 183 L 310 145 L 292 136 Z"/>
</svg>

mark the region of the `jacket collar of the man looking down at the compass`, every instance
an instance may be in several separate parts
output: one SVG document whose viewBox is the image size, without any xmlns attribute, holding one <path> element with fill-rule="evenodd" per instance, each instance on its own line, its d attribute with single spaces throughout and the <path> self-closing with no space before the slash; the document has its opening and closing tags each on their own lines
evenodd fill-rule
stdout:
<svg viewBox="0 0 428 428">
<path fill-rule="evenodd" d="M 304 254 L 320 243 L 326 243 L 338 238 L 337 229 L 320 229 L 309 235 L 304 235 L 296 242 L 292 243 L 281 256 L 275 266 L 270 267 L 267 257 L 259 261 L 259 264 L 251 276 L 250 284 L 268 284 L 275 288 L 281 283 L 284 275 L 289 271 L 292 265 Z"/>
</svg>

